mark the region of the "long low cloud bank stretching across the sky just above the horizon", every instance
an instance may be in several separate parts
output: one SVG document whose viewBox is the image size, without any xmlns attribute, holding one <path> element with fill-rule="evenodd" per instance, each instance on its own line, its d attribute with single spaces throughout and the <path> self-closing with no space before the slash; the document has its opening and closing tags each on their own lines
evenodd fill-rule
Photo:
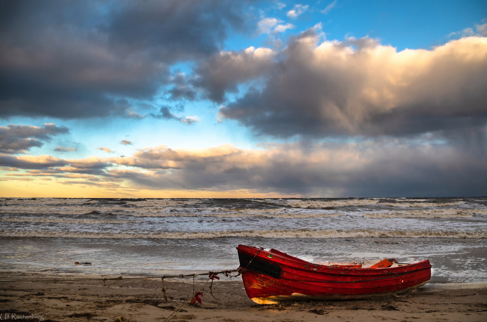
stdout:
<svg viewBox="0 0 487 322">
<path fill-rule="evenodd" d="M 152 190 L 232 191 L 315 197 L 480 196 L 487 176 L 487 128 L 347 142 L 230 144 L 203 149 L 161 145 L 130 157 L 59 159 L 0 155 L 27 169 L 4 178 Z M 3 168 L 3 170 L 7 170 Z M 10 180 L 10 179 L 5 179 Z"/>
</svg>

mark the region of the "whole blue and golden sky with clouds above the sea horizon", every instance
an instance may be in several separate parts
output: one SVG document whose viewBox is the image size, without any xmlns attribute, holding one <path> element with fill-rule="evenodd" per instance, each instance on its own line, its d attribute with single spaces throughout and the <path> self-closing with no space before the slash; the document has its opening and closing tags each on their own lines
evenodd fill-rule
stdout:
<svg viewBox="0 0 487 322">
<path fill-rule="evenodd" d="M 0 16 L 1 197 L 487 196 L 486 1 Z"/>
</svg>

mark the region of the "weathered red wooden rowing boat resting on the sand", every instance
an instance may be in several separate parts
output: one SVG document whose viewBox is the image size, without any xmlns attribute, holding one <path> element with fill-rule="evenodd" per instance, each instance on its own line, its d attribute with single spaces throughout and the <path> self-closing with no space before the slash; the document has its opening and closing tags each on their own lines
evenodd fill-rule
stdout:
<svg viewBox="0 0 487 322">
<path fill-rule="evenodd" d="M 274 249 L 239 245 L 237 251 L 245 291 L 257 304 L 386 296 L 415 289 L 431 278 L 429 260 L 310 263 Z"/>
</svg>

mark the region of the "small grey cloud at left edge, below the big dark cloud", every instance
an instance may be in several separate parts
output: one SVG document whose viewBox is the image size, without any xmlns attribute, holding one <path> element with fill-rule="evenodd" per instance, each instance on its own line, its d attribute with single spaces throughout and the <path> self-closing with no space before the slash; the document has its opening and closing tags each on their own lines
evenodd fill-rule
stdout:
<svg viewBox="0 0 487 322">
<path fill-rule="evenodd" d="M 69 133 L 66 126 L 57 127 L 46 123 L 41 127 L 33 125 L 0 126 L 0 153 L 26 153 L 31 147 L 40 147 L 41 141 L 51 141 L 51 136 Z M 38 139 L 38 140 L 37 140 Z"/>
</svg>

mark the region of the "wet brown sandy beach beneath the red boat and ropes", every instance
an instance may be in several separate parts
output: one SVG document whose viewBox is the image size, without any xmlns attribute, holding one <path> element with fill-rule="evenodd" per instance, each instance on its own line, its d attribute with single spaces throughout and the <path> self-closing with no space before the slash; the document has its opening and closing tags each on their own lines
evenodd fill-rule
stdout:
<svg viewBox="0 0 487 322">
<path fill-rule="evenodd" d="M 0 273 L 1 280 L 41 278 L 46 276 Z M 487 283 L 427 284 L 414 292 L 371 300 L 257 305 L 247 297 L 241 280 L 221 278 L 212 288 L 220 301 L 210 295 L 208 283 L 203 303 L 188 304 L 171 321 L 487 321 Z M 204 282 L 197 279 L 196 290 Z M 161 322 L 191 296 L 193 284 L 190 278 L 167 279 L 169 303 L 161 286 L 157 279 L 107 281 L 106 286 L 101 281 L 1 282 L 1 318 L 14 321 L 11 314 L 16 314 L 16 321 Z M 19 319 L 22 315 L 37 319 Z"/>
</svg>

